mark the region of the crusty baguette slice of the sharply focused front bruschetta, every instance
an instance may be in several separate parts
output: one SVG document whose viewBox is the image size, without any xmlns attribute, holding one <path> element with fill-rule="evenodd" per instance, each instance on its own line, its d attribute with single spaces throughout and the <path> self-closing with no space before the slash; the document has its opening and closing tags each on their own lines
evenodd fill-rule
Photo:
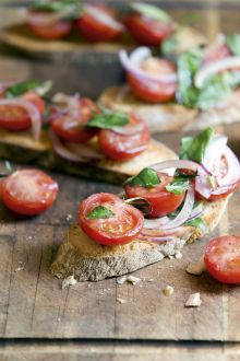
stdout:
<svg viewBox="0 0 240 361">
<path fill-rule="evenodd" d="M 212 231 L 219 222 L 228 198 L 203 202 L 203 219 Z M 92 241 L 79 225 L 72 225 L 64 243 L 59 247 L 50 271 L 65 278 L 74 275 L 79 281 L 100 281 L 108 277 L 122 276 L 147 265 L 175 256 L 187 243 L 204 235 L 194 226 L 182 226 L 172 241 L 154 243 L 133 241 L 127 245 L 101 246 Z"/>
</svg>

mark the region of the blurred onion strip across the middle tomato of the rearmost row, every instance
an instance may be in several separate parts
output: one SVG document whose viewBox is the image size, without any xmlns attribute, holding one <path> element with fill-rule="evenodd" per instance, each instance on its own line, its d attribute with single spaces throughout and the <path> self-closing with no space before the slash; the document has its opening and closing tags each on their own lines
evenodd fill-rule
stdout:
<svg viewBox="0 0 240 361">
<path fill-rule="evenodd" d="M 125 27 L 120 22 L 115 20 L 111 15 L 109 15 L 106 11 L 104 11 L 99 7 L 86 4 L 83 7 L 83 10 L 85 13 L 93 16 L 96 21 L 98 21 L 116 31 L 123 32 L 125 30 Z"/>
</svg>

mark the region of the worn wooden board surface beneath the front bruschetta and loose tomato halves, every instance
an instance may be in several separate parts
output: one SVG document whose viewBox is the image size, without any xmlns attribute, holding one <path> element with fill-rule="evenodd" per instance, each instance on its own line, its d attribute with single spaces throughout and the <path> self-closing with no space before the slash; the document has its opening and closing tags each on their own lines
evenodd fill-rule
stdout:
<svg viewBox="0 0 240 361">
<path fill-rule="evenodd" d="M 158 138 L 177 150 L 179 135 Z M 239 148 L 236 151 L 240 153 Z M 79 202 L 94 191 L 119 188 L 53 176 L 60 194 L 40 217 L 17 219 L 0 206 L 0 337 L 240 341 L 240 287 L 223 286 L 206 273 L 185 272 L 211 237 L 240 234 L 240 191 L 214 234 L 184 247 L 182 259 L 165 259 L 134 272 L 141 278 L 136 286 L 119 286 L 112 278 L 61 290 L 49 267 L 69 225 L 76 221 Z M 169 298 L 163 293 L 167 284 L 175 287 Z M 185 308 L 194 292 L 201 292 L 201 307 Z"/>
</svg>

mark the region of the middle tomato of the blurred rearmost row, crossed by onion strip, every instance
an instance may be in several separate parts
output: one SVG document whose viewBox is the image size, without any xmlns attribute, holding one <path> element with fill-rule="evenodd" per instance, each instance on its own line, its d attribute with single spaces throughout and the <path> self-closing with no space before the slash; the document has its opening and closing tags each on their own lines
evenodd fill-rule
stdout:
<svg viewBox="0 0 240 361">
<path fill-rule="evenodd" d="M 91 8 L 96 10 L 98 15 L 94 16 L 87 11 L 82 14 L 77 21 L 81 36 L 88 42 L 97 43 L 110 42 L 122 34 L 123 28 L 117 28 L 103 19 L 104 16 L 111 16 L 115 20 L 115 14 L 110 8 L 100 5 L 91 5 Z"/>
</svg>

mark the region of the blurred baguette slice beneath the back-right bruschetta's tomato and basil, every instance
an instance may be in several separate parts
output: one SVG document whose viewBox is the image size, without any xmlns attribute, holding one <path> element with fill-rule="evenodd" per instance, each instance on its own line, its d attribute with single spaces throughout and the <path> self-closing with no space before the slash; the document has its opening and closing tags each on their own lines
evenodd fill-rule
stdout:
<svg viewBox="0 0 240 361">
<path fill-rule="evenodd" d="M 107 89 L 98 103 L 117 112 L 136 113 L 152 132 L 200 130 L 209 126 L 240 121 L 240 90 L 217 107 L 200 110 L 176 103 L 153 104 L 134 95 L 128 85 Z"/>
</svg>

